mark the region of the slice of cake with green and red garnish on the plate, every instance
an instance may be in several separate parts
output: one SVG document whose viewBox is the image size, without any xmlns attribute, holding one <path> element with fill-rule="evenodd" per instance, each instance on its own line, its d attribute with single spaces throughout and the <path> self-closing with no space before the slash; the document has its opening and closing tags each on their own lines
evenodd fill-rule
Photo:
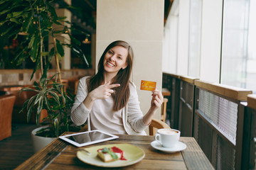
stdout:
<svg viewBox="0 0 256 170">
<path fill-rule="evenodd" d="M 98 149 L 97 157 L 99 157 L 103 162 L 113 162 L 119 159 L 126 160 L 124 158 L 124 152 L 118 147 L 104 147 L 102 149 Z"/>
</svg>

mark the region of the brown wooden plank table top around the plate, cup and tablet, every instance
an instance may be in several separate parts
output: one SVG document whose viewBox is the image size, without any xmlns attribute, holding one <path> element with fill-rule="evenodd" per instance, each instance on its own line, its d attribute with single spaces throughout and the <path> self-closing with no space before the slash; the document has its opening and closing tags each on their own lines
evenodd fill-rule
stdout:
<svg viewBox="0 0 256 170">
<path fill-rule="evenodd" d="M 193 137 L 180 138 L 180 142 L 185 143 L 187 146 L 185 150 L 166 153 L 151 147 L 150 143 L 154 141 L 154 136 L 118 136 L 119 138 L 116 140 L 101 142 L 86 147 L 128 143 L 144 150 L 145 157 L 142 161 L 130 166 L 119 167 L 118 169 L 213 169 L 213 166 Z M 27 159 L 26 162 L 23 162 L 16 169 L 103 169 L 102 167 L 81 162 L 76 157 L 76 152 L 78 152 L 78 147 L 70 145 L 68 142 L 58 138 L 44 149 L 41 149 L 40 152 Z"/>
</svg>

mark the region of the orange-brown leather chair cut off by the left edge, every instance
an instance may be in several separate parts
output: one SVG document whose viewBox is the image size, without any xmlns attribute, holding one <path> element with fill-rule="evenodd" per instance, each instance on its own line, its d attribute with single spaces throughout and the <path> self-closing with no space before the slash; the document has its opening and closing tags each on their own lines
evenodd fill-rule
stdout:
<svg viewBox="0 0 256 170">
<path fill-rule="evenodd" d="M 0 141 L 11 136 L 11 115 L 15 99 L 14 94 L 0 96 Z"/>
</svg>

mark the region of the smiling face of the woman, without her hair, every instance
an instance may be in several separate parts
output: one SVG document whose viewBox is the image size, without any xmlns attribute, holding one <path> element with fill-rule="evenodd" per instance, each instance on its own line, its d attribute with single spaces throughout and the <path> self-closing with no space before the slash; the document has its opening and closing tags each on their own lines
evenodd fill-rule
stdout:
<svg viewBox="0 0 256 170">
<path fill-rule="evenodd" d="M 127 67 L 128 50 L 122 46 L 115 46 L 107 51 L 104 58 L 104 69 L 107 73 L 117 74 L 120 69 Z"/>
</svg>

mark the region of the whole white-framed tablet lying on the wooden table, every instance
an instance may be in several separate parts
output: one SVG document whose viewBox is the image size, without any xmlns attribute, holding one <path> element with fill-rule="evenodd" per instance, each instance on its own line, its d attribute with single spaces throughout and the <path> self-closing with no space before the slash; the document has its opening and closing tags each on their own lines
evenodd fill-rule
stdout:
<svg viewBox="0 0 256 170">
<path fill-rule="evenodd" d="M 99 142 L 104 142 L 107 140 L 117 139 L 118 136 L 112 135 L 107 132 L 102 132 L 100 130 L 91 130 L 87 132 L 78 132 L 71 135 L 60 136 L 60 139 L 70 142 L 77 147 L 83 147 L 86 145 L 92 145 Z"/>
</svg>

